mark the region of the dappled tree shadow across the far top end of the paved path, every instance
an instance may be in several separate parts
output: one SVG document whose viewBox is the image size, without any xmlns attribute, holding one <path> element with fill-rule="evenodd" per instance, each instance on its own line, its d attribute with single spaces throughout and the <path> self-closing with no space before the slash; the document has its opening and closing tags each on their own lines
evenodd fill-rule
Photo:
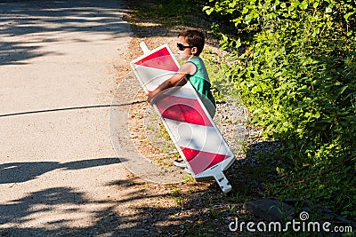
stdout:
<svg viewBox="0 0 356 237">
<path fill-rule="evenodd" d="M 127 36 L 124 6 L 111 1 L 21 1 L 0 3 L 0 65 L 26 64 L 24 60 L 53 54 L 38 43 L 61 43 L 65 33 L 104 34 L 108 39 Z M 74 42 L 85 42 L 77 34 Z"/>
</svg>

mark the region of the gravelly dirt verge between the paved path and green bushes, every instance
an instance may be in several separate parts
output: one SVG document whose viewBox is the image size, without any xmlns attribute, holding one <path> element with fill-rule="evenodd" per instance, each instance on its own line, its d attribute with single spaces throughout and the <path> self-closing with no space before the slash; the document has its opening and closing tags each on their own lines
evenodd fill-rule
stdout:
<svg viewBox="0 0 356 237">
<path fill-rule="evenodd" d="M 127 12 L 125 20 L 131 23 L 133 31 L 129 43 L 129 53 L 125 55 L 127 67 L 117 67 L 122 76 L 117 83 L 125 80 L 131 73 L 129 62 L 142 55 L 140 43 L 145 42 L 150 49 L 166 43 L 175 50 L 176 36 L 182 27 L 162 27 L 156 23 L 149 23 Z M 214 38 L 206 38 L 206 48 L 223 53 L 216 47 Z M 146 99 L 143 91 L 134 95 L 135 101 Z M 279 145 L 278 142 L 264 141 L 260 137 L 260 130 L 246 124 L 248 112 L 240 105 L 219 103 L 215 115 L 219 129 L 224 138 L 236 154 L 237 161 L 226 170 L 232 191 L 223 194 L 214 180 L 197 182 L 187 177 L 184 181 L 169 185 L 152 184 L 132 175 L 132 183 L 142 195 L 139 205 L 127 210 L 134 217 L 137 228 L 150 236 L 246 236 L 248 233 L 231 232 L 229 225 L 237 218 L 243 221 L 261 221 L 243 208 L 246 201 L 262 199 L 269 194 L 265 183 L 273 181 L 270 170 L 259 163 L 257 157 L 272 154 Z M 135 103 L 129 110 L 129 136 L 134 141 L 139 153 L 157 165 L 172 165 L 177 157 L 173 144 L 165 138 L 162 126 L 148 131 L 147 102 Z M 239 121 L 231 119 L 239 117 Z M 156 118 L 155 122 L 158 122 Z M 152 139 L 150 132 L 158 133 Z M 241 146 L 235 146 L 234 137 L 239 133 Z M 157 134 L 156 134 L 157 135 Z M 243 140 L 241 140 L 241 138 Z M 155 143 L 158 142 L 158 143 Z M 163 147 L 165 144 L 165 147 Z M 168 146 L 166 146 L 168 144 Z M 271 234 L 272 236 L 273 234 Z"/>
</svg>

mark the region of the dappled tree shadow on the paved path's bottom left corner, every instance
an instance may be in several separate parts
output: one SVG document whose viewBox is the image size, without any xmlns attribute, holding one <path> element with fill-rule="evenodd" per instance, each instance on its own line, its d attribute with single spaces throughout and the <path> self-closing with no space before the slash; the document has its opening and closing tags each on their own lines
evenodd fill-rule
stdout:
<svg viewBox="0 0 356 237">
<path fill-rule="evenodd" d="M 85 209 L 85 206 L 98 207 L 96 210 Z M 101 209 L 104 205 L 106 208 Z M 103 225 L 108 219 L 107 214 L 115 206 L 109 201 L 93 201 L 68 187 L 48 188 L 28 194 L 9 204 L 0 205 L 1 236 L 94 236 L 97 233 L 109 233 L 111 228 Z M 61 207 L 61 208 L 59 208 Z M 54 212 L 53 212 L 54 211 Z M 85 215 L 99 219 L 94 225 L 85 227 L 73 226 L 76 220 Z M 108 215 L 109 216 L 109 215 Z M 41 219 L 39 227 L 31 227 L 35 218 Z M 116 225 L 121 218 L 115 217 Z M 101 225 L 102 224 L 102 225 Z M 43 225 L 43 227 L 40 227 Z"/>
</svg>

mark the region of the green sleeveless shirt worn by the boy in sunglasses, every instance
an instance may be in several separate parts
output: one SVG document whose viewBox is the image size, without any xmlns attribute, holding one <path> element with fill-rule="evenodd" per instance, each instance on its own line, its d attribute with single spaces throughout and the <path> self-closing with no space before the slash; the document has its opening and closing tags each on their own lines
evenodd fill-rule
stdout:
<svg viewBox="0 0 356 237">
<path fill-rule="evenodd" d="M 212 91 L 210 91 L 210 79 L 206 72 L 206 66 L 202 59 L 193 58 L 188 62 L 193 63 L 197 67 L 197 71 L 194 75 L 189 75 L 188 79 L 194 89 L 198 92 L 200 99 L 206 106 L 209 114 L 214 117 L 216 104 Z"/>
</svg>

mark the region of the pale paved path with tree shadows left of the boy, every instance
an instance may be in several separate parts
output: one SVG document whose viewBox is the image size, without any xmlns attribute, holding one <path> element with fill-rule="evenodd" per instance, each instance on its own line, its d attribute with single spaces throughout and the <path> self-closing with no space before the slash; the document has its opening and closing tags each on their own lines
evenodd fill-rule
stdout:
<svg viewBox="0 0 356 237">
<path fill-rule="evenodd" d="M 0 235 L 105 234 L 109 213 L 125 216 L 128 171 L 109 134 L 129 42 L 122 7 L 1 1 Z"/>
</svg>

